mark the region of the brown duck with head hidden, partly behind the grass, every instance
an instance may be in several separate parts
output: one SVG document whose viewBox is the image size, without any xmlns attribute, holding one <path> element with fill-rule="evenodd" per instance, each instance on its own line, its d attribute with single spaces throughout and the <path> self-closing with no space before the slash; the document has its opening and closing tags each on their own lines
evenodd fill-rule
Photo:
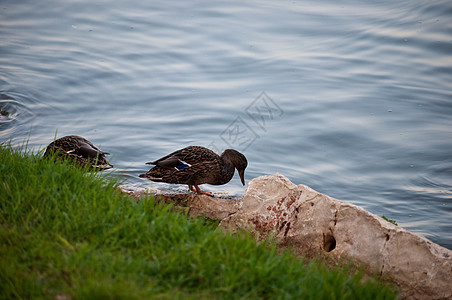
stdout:
<svg viewBox="0 0 452 300">
<path fill-rule="evenodd" d="M 68 135 L 59 138 L 47 146 L 44 157 L 56 154 L 58 158 L 73 159 L 81 166 L 88 165 L 93 169 L 105 170 L 113 168 L 105 159 L 105 155 L 110 154 L 101 151 L 87 139 Z"/>
</svg>

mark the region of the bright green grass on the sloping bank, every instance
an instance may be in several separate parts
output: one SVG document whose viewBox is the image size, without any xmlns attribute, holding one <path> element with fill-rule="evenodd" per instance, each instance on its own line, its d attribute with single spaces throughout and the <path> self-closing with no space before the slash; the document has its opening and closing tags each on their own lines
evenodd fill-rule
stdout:
<svg viewBox="0 0 452 300">
<path fill-rule="evenodd" d="M 0 146 L 0 298 L 394 299 L 347 268 L 225 234 L 117 183 Z"/>
</svg>

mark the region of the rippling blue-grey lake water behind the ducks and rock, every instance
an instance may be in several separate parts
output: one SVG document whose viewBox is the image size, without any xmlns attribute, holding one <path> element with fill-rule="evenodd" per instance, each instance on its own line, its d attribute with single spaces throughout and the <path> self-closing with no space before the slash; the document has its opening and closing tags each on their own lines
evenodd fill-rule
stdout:
<svg viewBox="0 0 452 300">
<path fill-rule="evenodd" d="M 451 1 L 0 3 L 0 140 L 110 152 L 132 187 L 188 145 L 452 249 Z M 240 196 L 237 176 L 205 190 Z"/>
</svg>

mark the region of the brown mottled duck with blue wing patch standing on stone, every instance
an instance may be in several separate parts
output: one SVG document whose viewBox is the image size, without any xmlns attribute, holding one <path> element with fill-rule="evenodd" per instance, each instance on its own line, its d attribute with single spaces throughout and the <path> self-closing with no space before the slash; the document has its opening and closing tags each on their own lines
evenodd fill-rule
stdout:
<svg viewBox="0 0 452 300">
<path fill-rule="evenodd" d="M 234 168 L 245 185 L 244 174 L 248 162 L 245 155 L 234 149 L 226 149 L 218 155 L 205 147 L 189 146 L 146 164 L 155 167 L 139 175 L 141 178 L 156 182 L 187 184 L 193 192 L 212 196 L 202 191 L 198 185 L 226 184 L 234 176 Z"/>
</svg>

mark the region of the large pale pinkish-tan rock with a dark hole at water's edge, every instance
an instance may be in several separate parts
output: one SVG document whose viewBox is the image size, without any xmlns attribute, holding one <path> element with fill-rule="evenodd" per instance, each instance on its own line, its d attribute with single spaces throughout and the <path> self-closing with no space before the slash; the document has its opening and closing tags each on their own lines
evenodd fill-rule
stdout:
<svg viewBox="0 0 452 300">
<path fill-rule="evenodd" d="M 281 174 L 253 179 L 241 209 L 223 219 L 230 230 L 273 234 L 303 256 L 324 255 L 393 280 L 406 299 L 452 298 L 452 251 L 366 210 L 295 185 Z"/>
</svg>

